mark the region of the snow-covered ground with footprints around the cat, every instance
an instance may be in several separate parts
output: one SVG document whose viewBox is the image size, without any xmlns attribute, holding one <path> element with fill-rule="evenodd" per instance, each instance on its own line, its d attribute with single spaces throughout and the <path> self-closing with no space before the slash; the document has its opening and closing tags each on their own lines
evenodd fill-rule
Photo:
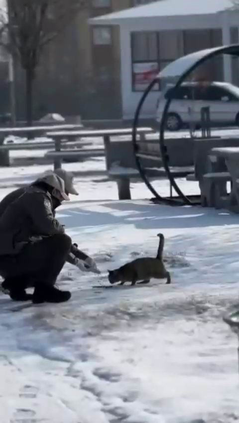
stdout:
<svg viewBox="0 0 239 423">
<path fill-rule="evenodd" d="M 0 168 L 0 198 L 49 168 Z M 94 169 L 104 159 L 81 164 Z M 0 423 L 238 422 L 238 341 L 222 321 L 239 302 L 238 215 L 153 205 L 142 183 L 119 202 L 105 175 L 76 185 L 58 217 L 102 275 L 66 264 L 59 286 L 72 299 L 56 306 L 0 294 Z M 155 186 L 168 195 L 165 181 Z M 172 285 L 94 288 L 107 269 L 155 255 L 158 232 Z"/>
</svg>

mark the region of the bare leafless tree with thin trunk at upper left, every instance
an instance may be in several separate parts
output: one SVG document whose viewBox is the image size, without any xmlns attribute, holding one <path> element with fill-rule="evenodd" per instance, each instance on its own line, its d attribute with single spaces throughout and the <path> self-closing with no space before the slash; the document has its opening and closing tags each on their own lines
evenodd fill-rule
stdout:
<svg viewBox="0 0 239 423">
<path fill-rule="evenodd" d="M 32 89 L 42 53 L 86 5 L 87 0 L 7 0 L 0 35 L 25 71 L 26 121 L 32 124 Z M 7 34 L 7 37 L 4 36 Z M 6 41 L 7 39 L 7 41 Z M 4 42 L 5 40 L 5 42 Z"/>
</svg>

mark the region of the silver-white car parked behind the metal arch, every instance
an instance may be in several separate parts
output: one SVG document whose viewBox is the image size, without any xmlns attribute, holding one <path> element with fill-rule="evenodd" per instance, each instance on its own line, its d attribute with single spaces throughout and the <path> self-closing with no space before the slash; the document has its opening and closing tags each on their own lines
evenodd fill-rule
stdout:
<svg viewBox="0 0 239 423">
<path fill-rule="evenodd" d="M 157 102 L 156 120 L 160 124 L 164 106 L 168 98 L 172 102 L 167 113 L 166 129 L 178 131 L 190 122 L 201 122 L 201 108 L 210 107 L 212 124 L 239 126 L 239 87 L 228 82 L 211 82 L 202 85 L 185 82 L 177 89 L 167 85 Z"/>
</svg>

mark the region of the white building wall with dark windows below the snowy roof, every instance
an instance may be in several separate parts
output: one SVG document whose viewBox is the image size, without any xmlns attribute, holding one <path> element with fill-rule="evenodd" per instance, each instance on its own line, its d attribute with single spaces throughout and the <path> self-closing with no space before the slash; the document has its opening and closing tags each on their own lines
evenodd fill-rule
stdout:
<svg viewBox="0 0 239 423">
<path fill-rule="evenodd" d="M 172 23 L 173 21 L 173 23 Z M 155 30 L 153 25 L 149 25 L 147 22 L 135 23 L 128 27 L 121 26 L 121 59 L 124 61 L 121 75 L 121 90 L 122 90 L 122 109 L 123 118 L 132 119 L 134 116 L 137 104 L 142 96 L 143 90 L 148 85 L 148 81 L 145 84 L 135 84 L 135 79 L 140 67 L 134 64 L 142 63 L 141 70 L 149 70 L 150 64 L 156 64 L 156 69 L 160 70 L 170 61 L 177 57 L 188 54 L 190 52 L 210 48 L 217 45 L 222 45 L 223 42 L 223 22 L 217 21 L 215 18 L 199 19 L 197 17 L 185 18 L 184 22 L 180 19 L 170 19 L 169 22 L 164 20 L 163 22 L 157 22 L 155 19 Z M 220 24 L 222 24 L 220 28 Z M 143 31 L 142 31 L 142 25 Z M 184 27 L 182 31 L 180 29 L 168 30 L 168 27 L 178 28 Z M 231 27 L 231 42 L 238 42 L 238 27 L 232 21 Z M 147 27 L 151 26 L 151 30 Z M 158 28 L 161 28 L 158 31 Z M 194 28 L 194 29 L 192 29 Z M 141 30 L 140 30 L 141 29 Z M 147 29 L 147 30 L 146 30 Z M 134 40 L 133 38 L 136 38 Z M 145 39 L 146 38 L 146 39 Z M 230 41 L 229 41 L 230 42 Z M 137 45 L 138 43 L 138 45 Z M 226 43 L 225 43 L 226 44 Z M 135 46 L 135 48 L 133 47 Z M 225 59 L 218 57 L 207 65 L 202 66 L 199 73 L 207 75 L 211 80 L 224 80 L 225 75 Z M 227 59 L 226 59 L 227 61 Z M 144 63 L 148 67 L 144 69 Z M 231 68 L 231 63 L 233 64 Z M 153 72 L 157 74 L 157 70 Z M 230 79 L 226 77 L 228 82 L 233 82 L 239 85 L 239 60 L 237 58 L 229 58 L 229 72 L 226 76 L 230 76 Z M 139 82 L 141 82 L 139 75 Z M 144 103 L 141 111 L 141 117 L 152 118 L 155 116 L 156 104 L 160 95 L 160 85 L 155 86 L 155 91 L 151 92 Z"/>
</svg>

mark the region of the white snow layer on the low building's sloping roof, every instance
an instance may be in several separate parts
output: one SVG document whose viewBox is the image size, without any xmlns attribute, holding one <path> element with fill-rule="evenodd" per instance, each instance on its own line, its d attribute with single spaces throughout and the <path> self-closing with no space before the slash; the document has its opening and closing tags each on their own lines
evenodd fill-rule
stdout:
<svg viewBox="0 0 239 423">
<path fill-rule="evenodd" d="M 90 19 L 93 24 L 117 24 L 124 19 L 215 14 L 233 6 L 232 0 L 159 0 Z"/>
</svg>

